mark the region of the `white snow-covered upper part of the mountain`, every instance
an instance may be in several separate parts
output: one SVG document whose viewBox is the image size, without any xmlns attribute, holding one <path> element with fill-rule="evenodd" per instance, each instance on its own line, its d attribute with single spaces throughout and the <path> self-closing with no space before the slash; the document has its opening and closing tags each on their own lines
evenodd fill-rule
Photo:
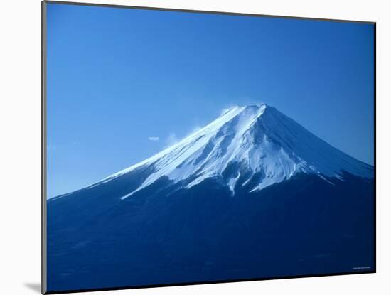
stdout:
<svg viewBox="0 0 391 295">
<path fill-rule="evenodd" d="M 227 109 L 177 144 L 102 181 L 141 166 L 150 166 L 154 172 L 122 199 L 162 176 L 174 183 L 183 181 L 186 188 L 207 178 L 218 178 L 232 194 L 240 178 L 241 185 L 250 186 L 250 191 L 282 182 L 296 173 L 314 173 L 330 183 L 327 178 L 342 179 L 343 171 L 373 178 L 371 166 L 338 151 L 267 104 Z"/>
</svg>

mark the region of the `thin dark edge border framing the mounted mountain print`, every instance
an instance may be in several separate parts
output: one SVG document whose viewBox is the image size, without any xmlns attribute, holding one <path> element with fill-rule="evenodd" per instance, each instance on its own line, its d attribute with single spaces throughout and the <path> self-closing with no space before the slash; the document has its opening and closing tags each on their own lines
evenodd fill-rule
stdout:
<svg viewBox="0 0 391 295">
<path fill-rule="evenodd" d="M 74 290 L 62 290 L 62 291 L 48 291 L 47 290 L 47 231 L 46 231 L 46 198 L 47 198 L 47 175 L 46 175 L 46 6 L 47 4 L 63 4 L 63 5 L 78 5 L 78 6 L 101 6 L 101 7 L 112 7 L 119 9 L 143 9 L 143 10 L 157 10 L 157 11 L 178 11 L 183 13 L 198 13 L 198 14 L 223 14 L 230 16 L 256 16 L 256 17 L 267 17 L 267 18 L 288 18 L 288 19 L 299 19 L 309 21 L 332 21 L 342 23 L 368 23 L 373 25 L 373 45 L 374 45 L 374 63 L 373 63 L 373 75 L 374 75 L 374 87 L 373 87 L 373 132 L 374 132 L 374 237 L 373 237 L 373 259 L 374 267 L 370 270 L 359 269 L 355 272 L 338 272 L 338 273 L 326 273 L 326 274 L 302 274 L 295 276 L 282 276 L 282 277 L 261 277 L 251 279 L 227 279 L 218 281 L 189 281 L 186 283 L 178 284 L 153 284 L 153 285 L 140 285 L 140 286 L 119 286 L 114 288 L 101 288 L 101 289 L 74 289 Z M 68 1 L 42 1 L 41 2 L 41 293 L 42 294 L 65 294 L 65 293 L 79 293 L 79 292 L 90 292 L 90 291 L 112 291 L 112 290 L 124 290 L 124 289 L 140 289 L 140 288 L 156 288 L 164 286 L 190 286 L 197 284 L 219 284 L 219 283 L 231 283 L 231 282 L 242 282 L 242 281 L 266 281 L 271 279 L 299 279 L 309 277 L 331 277 L 340 276 L 347 274 L 373 274 L 376 272 L 376 22 L 374 21 L 350 21 L 341 19 L 331 18 L 308 18 L 299 16 L 272 16 L 266 14 L 243 14 L 235 12 L 221 12 L 221 11 L 200 11 L 200 10 L 189 10 L 189 9 L 167 9 L 158 7 L 145 7 L 145 6 L 126 6 L 126 5 L 115 5 L 115 4 L 92 4 L 82 2 L 68 2 Z"/>
</svg>

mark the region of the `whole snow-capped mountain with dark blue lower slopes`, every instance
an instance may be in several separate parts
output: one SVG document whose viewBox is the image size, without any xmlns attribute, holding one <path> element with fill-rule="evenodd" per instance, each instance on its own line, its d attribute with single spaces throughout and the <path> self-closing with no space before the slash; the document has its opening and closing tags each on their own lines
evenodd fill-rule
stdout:
<svg viewBox="0 0 391 295">
<path fill-rule="evenodd" d="M 372 250 L 373 167 L 267 104 L 48 200 L 55 291 L 352 272 Z"/>
</svg>

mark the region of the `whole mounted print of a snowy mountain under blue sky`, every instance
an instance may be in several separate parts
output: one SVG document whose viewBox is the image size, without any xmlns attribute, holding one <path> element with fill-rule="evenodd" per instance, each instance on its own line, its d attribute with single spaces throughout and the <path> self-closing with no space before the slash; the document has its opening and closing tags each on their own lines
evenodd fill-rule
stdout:
<svg viewBox="0 0 391 295">
<path fill-rule="evenodd" d="M 43 293 L 375 272 L 375 23 L 42 8 Z"/>
</svg>

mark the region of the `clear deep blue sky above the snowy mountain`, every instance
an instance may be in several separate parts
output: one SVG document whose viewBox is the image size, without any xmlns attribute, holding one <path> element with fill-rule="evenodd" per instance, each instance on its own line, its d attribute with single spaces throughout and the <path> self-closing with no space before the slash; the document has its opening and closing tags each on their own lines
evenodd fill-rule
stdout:
<svg viewBox="0 0 391 295">
<path fill-rule="evenodd" d="M 232 104 L 266 102 L 373 164 L 373 50 L 363 23 L 48 4 L 48 196 Z"/>
</svg>

